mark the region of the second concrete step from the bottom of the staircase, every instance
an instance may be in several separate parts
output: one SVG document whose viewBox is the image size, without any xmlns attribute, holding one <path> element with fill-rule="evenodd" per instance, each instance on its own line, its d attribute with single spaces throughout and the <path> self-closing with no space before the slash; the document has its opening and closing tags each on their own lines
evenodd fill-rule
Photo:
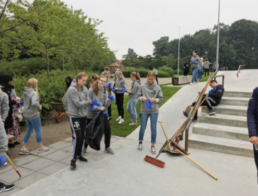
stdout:
<svg viewBox="0 0 258 196">
<path fill-rule="evenodd" d="M 249 141 L 248 129 L 243 127 L 196 123 L 193 127 L 193 133 L 213 137 L 242 140 L 246 142 Z"/>
</svg>

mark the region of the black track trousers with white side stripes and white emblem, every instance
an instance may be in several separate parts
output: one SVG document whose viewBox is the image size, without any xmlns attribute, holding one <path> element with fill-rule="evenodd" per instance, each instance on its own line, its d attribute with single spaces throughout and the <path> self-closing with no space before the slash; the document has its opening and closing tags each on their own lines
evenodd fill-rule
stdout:
<svg viewBox="0 0 258 196">
<path fill-rule="evenodd" d="M 85 130 L 87 127 L 87 117 L 69 118 L 69 122 L 73 138 L 71 160 L 76 160 L 76 157 L 81 155 Z"/>
</svg>

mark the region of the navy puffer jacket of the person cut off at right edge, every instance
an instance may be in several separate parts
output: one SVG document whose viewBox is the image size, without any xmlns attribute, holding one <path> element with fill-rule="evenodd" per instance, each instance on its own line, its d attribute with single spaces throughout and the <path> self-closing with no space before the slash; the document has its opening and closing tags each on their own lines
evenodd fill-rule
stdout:
<svg viewBox="0 0 258 196">
<path fill-rule="evenodd" d="M 253 89 L 247 108 L 247 126 L 249 137 L 258 137 L 258 87 Z"/>
</svg>

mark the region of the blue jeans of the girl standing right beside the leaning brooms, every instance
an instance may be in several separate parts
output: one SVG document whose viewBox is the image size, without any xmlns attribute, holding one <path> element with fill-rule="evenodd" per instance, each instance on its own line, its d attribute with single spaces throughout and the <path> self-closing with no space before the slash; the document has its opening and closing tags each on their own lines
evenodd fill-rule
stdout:
<svg viewBox="0 0 258 196">
<path fill-rule="evenodd" d="M 156 143 L 157 136 L 157 118 L 158 113 L 155 114 L 141 114 L 141 128 L 139 132 L 139 141 L 143 141 L 144 132 L 146 130 L 148 118 L 150 116 L 150 131 L 151 131 L 151 143 Z"/>
</svg>

